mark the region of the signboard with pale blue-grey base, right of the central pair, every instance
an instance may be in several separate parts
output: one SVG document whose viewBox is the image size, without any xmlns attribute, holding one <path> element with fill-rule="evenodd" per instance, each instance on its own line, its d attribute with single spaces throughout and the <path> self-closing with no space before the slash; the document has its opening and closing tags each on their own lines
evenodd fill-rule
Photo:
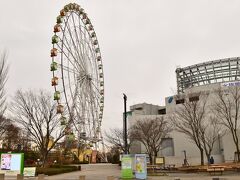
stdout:
<svg viewBox="0 0 240 180">
<path fill-rule="evenodd" d="M 135 170 L 136 179 L 147 178 L 146 154 L 135 154 Z"/>
</svg>

